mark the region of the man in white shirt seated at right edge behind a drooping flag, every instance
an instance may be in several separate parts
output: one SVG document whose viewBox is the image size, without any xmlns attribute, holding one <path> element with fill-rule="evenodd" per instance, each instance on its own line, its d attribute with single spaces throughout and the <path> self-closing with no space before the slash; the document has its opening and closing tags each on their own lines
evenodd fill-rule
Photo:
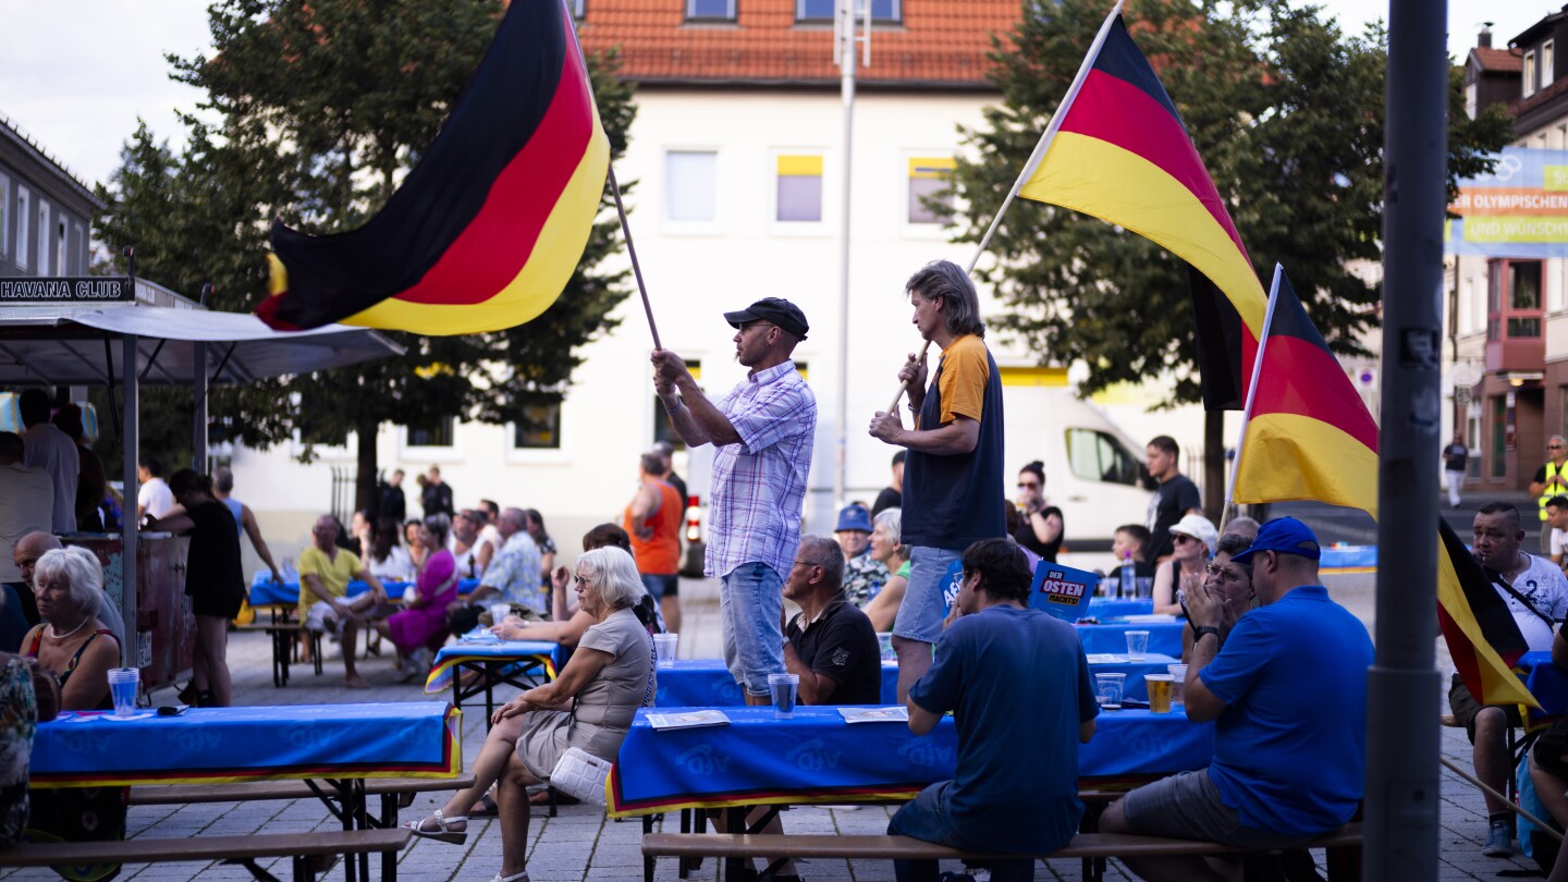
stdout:
<svg viewBox="0 0 1568 882">
<path fill-rule="evenodd" d="M 1568 615 L 1568 581 L 1551 560 L 1519 551 L 1524 529 L 1519 510 L 1507 502 L 1488 502 L 1475 512 L 1475 562 L 1491 578 L 1502 603 L 1513 614 L 1519 634 L 1530 651 L 1552 648 L 1552 631 L 1563 615 Z M 1475 775 L 1490 788 L 1502 793 L 1513 772 L 1508 755 L 1508 728 L 1523 725 L 1518 705 L 1486 705 L 1471 695 L 1458 672 L 1449 687 L 1449 708 L 1465 727 L 1474 747 Z M 1486 844 L 1480 854 L 1488 857 L 1512 857 L 1513 813 L 1497 797 L 1486 794 Z"/>
</svg>

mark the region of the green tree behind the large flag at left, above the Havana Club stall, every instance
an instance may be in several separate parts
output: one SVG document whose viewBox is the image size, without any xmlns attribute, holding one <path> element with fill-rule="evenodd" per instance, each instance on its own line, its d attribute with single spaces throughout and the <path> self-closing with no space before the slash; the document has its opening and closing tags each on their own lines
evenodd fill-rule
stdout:
<svg viewBox="0 0 1568 882">
<path fill-rule="evenodd" d="M 174 290 L 215 286 L 210 304 L 249 311 L 267 292 L 267 224 L 351 229 L 372 217 L 434 140 L 503 14 L 500 0 L 221 0 L 209 11 L 215 55 L 169 56 L 174 78 L 207 93 L 215 122 L 187 118 L 180 157 L 146 127 L 100 193 L 100 239 L 135 243 L 138 272 Z M 615 55 L 590 58 L 612 159 L 626 149 L 632 86 Z M 212 116 L 212 113 L 209 113 Z M 608 195 L 602 206 L 608 207 Z M 612 209 L 613 212 L 613 209 Z M 436 417 L 532 425 L 558 402 L 579 348 L 615 326 L 626 273 L 602 261 L 619 245 L 601 215 L 560 300 L 527 325 L 488 334 L 389 334 L 406 355 L 329 374 L 216 389 L 213 417 L 265 447 L 358 435 L 358 504 L 370 505 L 375 436 L 384 422 Z"/>
</svg>

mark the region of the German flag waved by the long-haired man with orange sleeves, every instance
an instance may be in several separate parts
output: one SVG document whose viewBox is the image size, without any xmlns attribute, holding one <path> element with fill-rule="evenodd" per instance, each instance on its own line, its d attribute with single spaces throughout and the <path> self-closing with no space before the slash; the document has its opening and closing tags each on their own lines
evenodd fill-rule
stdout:
<svg viewBox="0 0 1568 882">
<path fill-rule="evenodd" d="M 1200 361 L 1229 366 L 1225 378 L 1204 372 L 1204 400 L 1239 410 L 1240 366 L 1253 363 L 1267 308 L 1247 246 L 1120 14 L 1107 22 L 1085 67 L 1077 91 L 1057 108 L 1055 137 L 1018 193 L 1131 229 L 1185 261 L 1198 276 Z M 1215 289 L 1223 298 L 1214 297 Z M 1226 325 L 1232 345 L 1210 333 Z"/>
</svg>

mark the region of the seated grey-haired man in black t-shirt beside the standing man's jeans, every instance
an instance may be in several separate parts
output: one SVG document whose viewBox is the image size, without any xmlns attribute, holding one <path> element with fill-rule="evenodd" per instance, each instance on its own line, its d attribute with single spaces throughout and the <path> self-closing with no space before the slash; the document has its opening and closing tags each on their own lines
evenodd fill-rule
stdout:
<svg viewBox="0 0 1568 882">
<path fill-rule="evenodd" d="M 844 551 L 820 535 L 800 540 L 784 579 L 800 612 L 784 629 L 784 667 L 800 676 L 801 705 L 880 705 L 877 629 L 844 596 Z"/>
</svg>

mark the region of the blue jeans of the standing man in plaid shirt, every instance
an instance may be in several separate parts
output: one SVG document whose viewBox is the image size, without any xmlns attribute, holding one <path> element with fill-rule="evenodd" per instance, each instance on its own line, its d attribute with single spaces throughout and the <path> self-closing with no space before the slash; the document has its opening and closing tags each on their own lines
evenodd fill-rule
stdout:
<svg viewBox="0 0 1568 882">
<path fill-rule="evenodd" d="M 718 587 L 724 664 L 748 695 L 768 695 L 768 675 L 784 673 L 784 579 L 767 563 L 742 563 Z"/>
</svg>

